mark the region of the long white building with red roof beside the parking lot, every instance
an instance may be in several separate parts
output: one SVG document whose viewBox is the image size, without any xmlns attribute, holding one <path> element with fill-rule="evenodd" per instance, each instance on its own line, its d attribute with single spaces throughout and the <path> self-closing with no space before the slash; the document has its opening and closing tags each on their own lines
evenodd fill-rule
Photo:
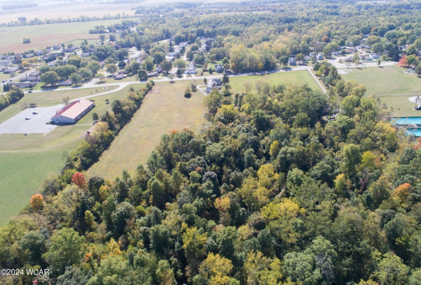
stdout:
<svg viewBox="0 0 421 285">
<path fill-rule="evenodd" d="M 63 109 L 56 110 L 56 115 L 51 118 L 51 121 L 56 122 L 56 124 L 73 124 L 78 122 L 93 107 L 95 107 L 95 104 L 92 101 L 79 99 Z"/>
</svg>

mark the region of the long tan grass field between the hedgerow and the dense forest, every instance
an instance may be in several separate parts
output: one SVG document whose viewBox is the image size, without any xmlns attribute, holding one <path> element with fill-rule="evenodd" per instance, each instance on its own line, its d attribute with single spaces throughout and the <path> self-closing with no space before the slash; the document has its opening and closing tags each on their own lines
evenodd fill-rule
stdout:
<svg viewBox="0 0 421 285">
<path fill-rule="evenodd" d="M 203 106 L 205 96 L 197 91 L 191 98 L 184 98 L 184 90 L 190 83 L 191 80 L 156 82 L 132 121 L 120 131 L 87 174 L 108 179 L 121 176 L 123 169 L 133 174 L 139 164 L 146 163 L 163 134 L 184 128 L 199 132 L 208 123 L 203 117 L 206 112 Z M 203 80 L 196 83 L 203 84 Z"/>
</svg>

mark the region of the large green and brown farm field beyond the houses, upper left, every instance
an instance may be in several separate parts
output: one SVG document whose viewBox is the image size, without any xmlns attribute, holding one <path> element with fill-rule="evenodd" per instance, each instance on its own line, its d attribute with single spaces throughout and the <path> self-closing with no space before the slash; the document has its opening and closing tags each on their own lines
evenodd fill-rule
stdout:
<svg viewBox="0 0 421 285">
<path fill-rule="evenodd" d="M 136 20 L 136 18 L 132 20 Z M 3 41 L 0 41 L 0 53 L 3 54 L 9 51 L 24 52 L 30 49 L 36 51 L 47 46 L 60 45 L 77 39 L 88 39 L 89 43 L 99 42 L 98 36 L 100 34 L 89 34 L 89 30 L 93 29 L 95 25 L 108 26 L 119 22 L 121 22 L 121 19 L 2 27 L 0 28 L 0 36 Z M 31 43 L 22 44 L 23 37 L 29 37 Z"/>
</svg>

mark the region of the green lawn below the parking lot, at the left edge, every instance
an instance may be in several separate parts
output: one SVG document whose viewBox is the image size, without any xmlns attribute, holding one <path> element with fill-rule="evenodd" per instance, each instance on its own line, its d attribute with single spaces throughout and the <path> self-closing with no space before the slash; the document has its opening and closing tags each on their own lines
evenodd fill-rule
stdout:
<svg viewBox="0 0 421 285">
<path fill-rule="evenodd" d="M 75 150 L 89 128 L 65 126 L 48 134 L 0 135 L 0 225 L 29 204 L 47 174 L 63 166 L 63 152 Z"/>
</svg>

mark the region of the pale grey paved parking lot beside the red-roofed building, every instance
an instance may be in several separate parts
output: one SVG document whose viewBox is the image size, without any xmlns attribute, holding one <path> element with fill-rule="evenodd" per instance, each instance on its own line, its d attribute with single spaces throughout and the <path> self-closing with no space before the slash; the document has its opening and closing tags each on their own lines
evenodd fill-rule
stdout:
<svg viewBox="0 0 421 285">
<path fill-rule="evenodd" d="M 0 134 L 2 133 L 48 133 L 56 128 L 55 125 L 47 125 L 46 122 L 56 113 L 60 105 L 52 107 L 26 108 L 16 116 L 0 124 Z M 38 112 L 33 115 L 32 112 Z M 31 120 L 25 120 L 30 118 Z"/>
</svg>

